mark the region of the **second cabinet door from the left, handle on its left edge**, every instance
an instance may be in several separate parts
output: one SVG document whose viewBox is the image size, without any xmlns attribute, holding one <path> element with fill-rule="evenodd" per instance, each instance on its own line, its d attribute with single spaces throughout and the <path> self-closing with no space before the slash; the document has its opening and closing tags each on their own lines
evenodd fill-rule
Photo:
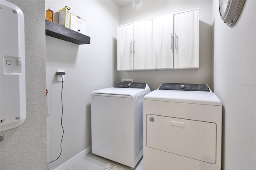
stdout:
<svg viewBox="0 0 256 170">
<path fill-rule="evenodd" d="M 134 69 L 152 69 L 152 20 L 134 23 Z"/>
</svg>

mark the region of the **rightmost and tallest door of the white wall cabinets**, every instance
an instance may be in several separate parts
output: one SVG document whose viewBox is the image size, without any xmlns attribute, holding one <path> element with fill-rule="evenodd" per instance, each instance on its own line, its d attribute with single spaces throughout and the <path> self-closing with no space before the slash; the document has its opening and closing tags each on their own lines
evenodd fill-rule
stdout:
<svg viewBox="0 0 256 170">
<path fill-rule="evenodd" d="M 199 10 L 174 15 L 174 68 L 199 67 Z"/>
</svg>

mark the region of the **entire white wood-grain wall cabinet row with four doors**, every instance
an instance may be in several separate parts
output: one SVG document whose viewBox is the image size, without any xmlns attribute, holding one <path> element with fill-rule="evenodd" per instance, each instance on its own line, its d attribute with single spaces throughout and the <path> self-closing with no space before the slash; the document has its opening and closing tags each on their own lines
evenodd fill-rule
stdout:
<svg viewBox="0 0 256 170">
<path fill-rule="evenodd" d="M 199 68 L 199 9 L 118 27 L 118 70 Z"/>
</svg>

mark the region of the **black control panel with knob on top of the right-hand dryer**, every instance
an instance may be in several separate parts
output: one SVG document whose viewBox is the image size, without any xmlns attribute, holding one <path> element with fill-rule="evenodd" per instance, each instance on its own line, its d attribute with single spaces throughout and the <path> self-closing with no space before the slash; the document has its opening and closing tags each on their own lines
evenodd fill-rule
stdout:
<svg viewBox="0 0 256 170">
<path fill-rule="evenodd" d="M 159 90 L 183 90 L 183 91 L 210 91 L 206 84 L 175 84 L 163 83 L 158 88 Z"/>
</svg>

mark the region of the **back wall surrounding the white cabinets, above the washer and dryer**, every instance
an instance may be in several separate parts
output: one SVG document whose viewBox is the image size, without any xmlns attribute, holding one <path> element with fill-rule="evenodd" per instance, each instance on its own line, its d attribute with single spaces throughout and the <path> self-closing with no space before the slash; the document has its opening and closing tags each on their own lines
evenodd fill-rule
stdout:
<svg viewBox="0 0 256 170">
<path fill-rule="evenodd" d="M 212 81 L 212 2 L 208 0 L 143 0 L 139 9 L 132 4 L 120 8 L 120 25 L 146 20 L 175 12 L 200 8 L 200 63 L 196 70 L 119 71 L 122 78 L 146 82 L 151 90 L 161 83 L 206 83 L 213 89 Z"/>
</svg>

